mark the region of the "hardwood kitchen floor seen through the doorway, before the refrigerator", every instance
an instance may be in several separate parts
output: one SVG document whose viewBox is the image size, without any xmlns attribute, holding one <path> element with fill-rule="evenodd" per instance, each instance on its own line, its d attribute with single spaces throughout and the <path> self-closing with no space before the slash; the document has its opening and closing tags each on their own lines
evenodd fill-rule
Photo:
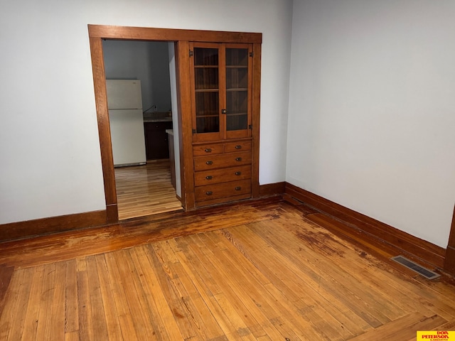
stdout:
<svg viewBox="0 0 455 341">
<path fill-rule="evenodd" d="M 144 166 L 115 168 L 120 220 L 181 210 L 169 167 L 169 160 L 163 159 Z"/>
</svg>

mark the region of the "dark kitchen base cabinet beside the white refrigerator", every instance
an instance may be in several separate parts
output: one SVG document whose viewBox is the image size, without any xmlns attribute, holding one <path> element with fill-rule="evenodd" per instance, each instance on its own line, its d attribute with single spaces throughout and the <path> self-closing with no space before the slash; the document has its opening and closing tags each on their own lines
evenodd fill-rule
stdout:
<svg viewBox="0 0 455 341">
<path fill-rule="evenodd" d="M 171 121 L 145 122 L 145 151 L 147 160 L 169 158 L 168 134 L 172 129 Z"/>
</svg>

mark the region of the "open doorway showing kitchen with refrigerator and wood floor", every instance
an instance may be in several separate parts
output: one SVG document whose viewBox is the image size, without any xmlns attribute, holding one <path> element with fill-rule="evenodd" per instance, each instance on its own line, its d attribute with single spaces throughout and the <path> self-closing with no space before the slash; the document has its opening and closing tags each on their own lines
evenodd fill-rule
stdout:
<svg viewBox="0 0 455 341">
<path fill-rule="evenodd" d="M 181 210 L 173 42 L 105 39 L 102 48 L 119 220 Z"/>
</svg>

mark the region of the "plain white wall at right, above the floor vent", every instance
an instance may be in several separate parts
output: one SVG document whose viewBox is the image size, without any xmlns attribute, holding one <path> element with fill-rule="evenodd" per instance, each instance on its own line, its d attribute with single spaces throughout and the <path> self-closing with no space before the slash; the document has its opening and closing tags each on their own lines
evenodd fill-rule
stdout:
<svg viewBox="0 0 455 341">
<path fill-rule="evenodd" d="M 446 247 L 455 1 L 294 0 L 287 181 Z"/>
</svg>

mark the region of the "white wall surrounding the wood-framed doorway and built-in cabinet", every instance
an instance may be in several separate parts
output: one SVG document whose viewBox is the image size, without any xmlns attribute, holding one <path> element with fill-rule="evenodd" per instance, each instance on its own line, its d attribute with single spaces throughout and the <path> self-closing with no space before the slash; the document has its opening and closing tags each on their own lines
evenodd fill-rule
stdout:
<svg viewBox="0 0 455 341">
<path fill-rule="evenodd" d="M 24 0 L 0 11 L 0 224 L 105 209 L 87 24 L 263 33 L 260 183 L 285 178 L 287 0 Z"/>
</svg>

